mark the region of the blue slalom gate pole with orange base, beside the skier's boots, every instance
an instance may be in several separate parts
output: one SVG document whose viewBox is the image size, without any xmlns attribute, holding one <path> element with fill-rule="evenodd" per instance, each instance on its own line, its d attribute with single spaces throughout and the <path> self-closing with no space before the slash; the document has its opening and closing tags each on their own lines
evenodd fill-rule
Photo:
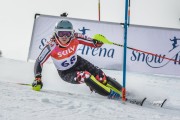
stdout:
<svg viewBox="0 0 180 120">
<path fill-rule="evenodd" d="M 128 0 L 125 1 L 122 101 L 126 101 L 126 50 L 127 50 L 127 26 L 128 26 Z"/>
</svg>

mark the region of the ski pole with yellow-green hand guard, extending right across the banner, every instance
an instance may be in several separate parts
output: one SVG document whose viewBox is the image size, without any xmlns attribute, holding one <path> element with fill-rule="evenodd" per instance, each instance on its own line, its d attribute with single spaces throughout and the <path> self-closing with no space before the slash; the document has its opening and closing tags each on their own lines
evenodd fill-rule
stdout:
<svg viewBox="0 0 180 120">
<path fill-rule="evenodd" d="M 96 34 L 96 35 L 94 35 L 93 39 L 98 40 L 98 41 L 101 41 L 101 42 L 103 42 L 103 43 L 105 43 L 105 44 L 110 44 L 110 45 L 116 45 L 116 46 L 124 47 L 124 45 L 111 42 L 111 41 L 108 40 L 105 36 L 103 36 L 103 35 L 101 35 L 101 34 Z M 145 54 L 150 54 L 150 55 L 153 55 L 153 56 L 157 56 L 157 57 L 159 57 L 159 58 L 163 58 L 163 59 L 167 59 L 167 60 L 170 60 L 170 61 L 174 61 L 174 62 L 179 62 L 179 63 L 180 63 L 180 61 L 177 61 L 177 60 L 175 60 L 175 59 L 167 58 L 167 57 L 165 57 L 165 56 L 157 55 L 157 54 L 154 54 L 154 53 L 151 53 L 151 52 L 146 52 L 146 51 L 139 50 L 139 49 L 132 48 L 132 47 L 127 47 L 127 48 L 130 49 L 130 50 L 137 51 L 137 52 L 142 52 L 142 53 L 145 53 Z"/>
</svg>

